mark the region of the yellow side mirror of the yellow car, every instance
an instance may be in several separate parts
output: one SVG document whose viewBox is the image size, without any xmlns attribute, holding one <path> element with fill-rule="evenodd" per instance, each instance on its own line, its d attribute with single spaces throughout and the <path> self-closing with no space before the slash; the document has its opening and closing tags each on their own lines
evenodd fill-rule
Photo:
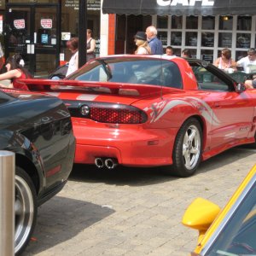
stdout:
<svg viewBox="0 0 256 256">
<path fill-rule="evenodd" d="M 196 198 L 183 215 L 182 224 L 199 230 L 199 238 L 205 235 L 213 220 L 218 216 L 220 207 L 203 198 Z"/>
</svg>

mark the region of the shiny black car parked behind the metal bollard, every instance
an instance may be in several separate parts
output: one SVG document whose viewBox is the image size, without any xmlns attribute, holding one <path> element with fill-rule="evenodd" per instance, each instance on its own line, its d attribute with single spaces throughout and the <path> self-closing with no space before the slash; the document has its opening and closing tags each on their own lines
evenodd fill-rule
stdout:
<svg viewBox="0 0 256 256">
<path fill-rule="evenodd" d="M 0 90 L 0 150 L 15 152 L 15 255 L 32 236 L 38 206 L 67 183 L 75 139 L 60 99 Z"/>
</svg>

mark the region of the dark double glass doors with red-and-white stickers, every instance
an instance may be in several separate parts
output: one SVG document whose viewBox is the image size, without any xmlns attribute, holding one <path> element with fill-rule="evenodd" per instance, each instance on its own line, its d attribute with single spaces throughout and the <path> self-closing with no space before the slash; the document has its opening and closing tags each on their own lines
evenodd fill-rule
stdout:
<svg viewBox="0 0 256 256">
<path fill-rule="evenodd" d="M 59 3 L 7 3 L 6 56 L 20 53 L 34 77 L 47 78 L 60 61 Z"/>
</svg>

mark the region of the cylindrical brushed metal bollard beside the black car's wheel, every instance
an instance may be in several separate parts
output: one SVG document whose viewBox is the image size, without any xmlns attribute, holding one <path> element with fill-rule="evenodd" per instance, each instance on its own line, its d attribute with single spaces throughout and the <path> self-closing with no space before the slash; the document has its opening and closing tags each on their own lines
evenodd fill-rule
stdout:
<svg viewBox="0 0 256 256">
<path fill-rule="evenodd" d="M 0 150 L 0 256 L 15 255 L 15 154 Z"/>
</svg>

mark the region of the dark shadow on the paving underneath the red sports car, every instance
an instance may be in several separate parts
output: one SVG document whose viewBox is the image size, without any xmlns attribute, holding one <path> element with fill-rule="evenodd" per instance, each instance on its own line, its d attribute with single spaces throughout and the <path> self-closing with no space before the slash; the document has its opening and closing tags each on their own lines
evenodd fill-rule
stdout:
<svg viewBox="0 0 256 256">
<path fill-rule="evenodd" d="M 256 154 L 256 150 L 241 147 L 231 148 L 222 154 L 218 154 L 209 160 L 201 162 L 201 165 L 194 175 L 202 172 L 212 172 L 216 168 L 229 165 L 251 154 Z M 108 170 L 107 168 L 98 169 L 96 166 L 75 164 L 69 180 L 87 183 L 108 183 L 118 186 L 147 186 L 178 178 L 183 177 L 175 177 L 172 175 L 172 172 L 166 172 L 166 167 L 139 168 L 117 166 L 113 170 Z"/>
</svg>

